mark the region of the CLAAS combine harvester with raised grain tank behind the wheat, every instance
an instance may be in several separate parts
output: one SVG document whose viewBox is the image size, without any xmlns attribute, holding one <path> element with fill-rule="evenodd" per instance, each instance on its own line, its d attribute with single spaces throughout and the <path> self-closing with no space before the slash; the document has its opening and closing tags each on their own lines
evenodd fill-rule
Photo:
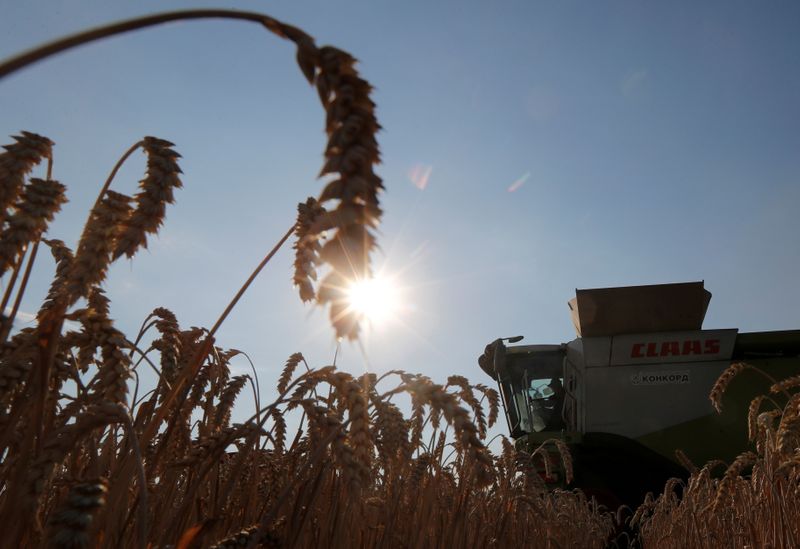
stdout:
<svg viewBox="0 0 800 549">
<path fill-rule="evenodd" d="M 479 364 L 500 387 L 517 448 L 564 441 L 573 458 L 571 487 L 610 508 L 637 505 L 670 477 L 685 478 L 677 450 L 699 466 L 730 463 L 749 448 L 752 399 L 769 392 L 770 377 L 800 373 L 800 330 L 703 330 L 710 300 L 702 282 L 577 290 L 569 302 L 577 339 L 489 344 Z M 709 393 L 732 362 L 757 370 L 731 381 L 717 413 Z M 553 451 L 551 474 L 541 474 L 565 487 Z"/>
</svg>

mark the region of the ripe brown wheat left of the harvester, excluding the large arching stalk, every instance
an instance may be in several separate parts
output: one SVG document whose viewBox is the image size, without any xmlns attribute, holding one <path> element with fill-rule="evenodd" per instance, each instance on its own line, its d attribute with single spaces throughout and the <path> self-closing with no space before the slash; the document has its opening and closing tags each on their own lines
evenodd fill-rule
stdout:
<svg viewBox="0 0 800 549">
<path fill-rule="evenodd" d="M 494 389 L 399 371 L 356 378 L 296 353 L 278 398 L 256 398 L 250 419 L 232 424 L 254 382 L 231 374 L 238 351 L 164 308 L 134 337 L 118 331 L 108 267 L 146 245 L 182 185 L 171 143 L 146 137 L 136 148 L 147 156 L 138 194 L 106 184 L 75 251 L 43 236 L 65 201 L 49 178 L 53 143 L 23 132 L 0 155 L 4 306 L 19 304 L 40 244 L 55 260 L 36 324 L 14 332 L 15 307 L 3 317 L 4 545 L 603 546 L 611 515 L 580 492 L 548 493 L 544 450 L 504 441 L 500 455 L 488 451 Z M 48 178 L 28 179 L 38 164 Z M 297 271 L 308 274 L 305 239 L 322 209 L 311 199 L 298 211 Z M 154 387 L 139 383 L 142 368 L 157 373 Z"/>
</svg>

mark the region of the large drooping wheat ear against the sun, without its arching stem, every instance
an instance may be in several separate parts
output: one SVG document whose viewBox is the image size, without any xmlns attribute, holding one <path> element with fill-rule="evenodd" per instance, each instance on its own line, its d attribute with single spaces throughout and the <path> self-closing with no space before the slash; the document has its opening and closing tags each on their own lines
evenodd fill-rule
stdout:
<svg viewBox="0 0 800 549">
<path fill-rule="evenodd" d="M 320 195 L 320 203 L 337 200 L 309 228 L 309 237 L 333 230 L 320 251 L 331 267 L 317 292 L 317 301 L 330 306 L 331 322 L 339 337 L 358 336 L 358 321 L 348 308 L 346 289 L 354 280 L 371 276 L 369 256 L 375 247 L 372 229 L 381 218 L 378 195 L 383 183 L 373 166 L 380 162 L 375 135 L 380 125 L 372 87 L 355 70 L 356 60 L 331 46 L 317 49 L 298 41 L 298 62 L 309 82 L 316 84 L 326 111 L 328 144 L 320 175 L 334 175 Z"/>
</svg>

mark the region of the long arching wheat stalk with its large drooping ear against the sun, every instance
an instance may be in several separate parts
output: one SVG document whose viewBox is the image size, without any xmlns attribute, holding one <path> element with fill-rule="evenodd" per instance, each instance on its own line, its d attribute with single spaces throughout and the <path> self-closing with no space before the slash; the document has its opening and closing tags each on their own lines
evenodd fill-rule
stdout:
<svg viewBox="0 0 800 549">
<path fill-rule="evenodd" d="M 260 13 L 186 10 L 130 19 L 45 44 L 0 64 L 0 78 L 51 55 L 102 38 L 172 21 L 209 18 L 259 23 L 281 38 L 291 40 L 297 46 L 297 63 L 303 75 L 317 88 L 326 112 L 328 136 L 320 176 L 335 176 L 322 191 L 319 202 L 336 200 L 338 204 L 319 215 L 308 227 L 298 253 L 319 250 L 319 257 L 305 258 L 306 274 L 310 275 L 318 263 L 326 264 L 331 270 L 316 292 L 310 276 L 296 277 L 295 281 L 304 299 L 315 294 L 317 303 L 330 308 L 330 320 L 338 337 L 355 339 L 359 319 L 349 310 L 345 287 L 353 280 L 371 276 L 370 254 L 376 246 L 372 231 L 382 215 L 378 195 L 384 187 L 373 171 L 373 166 L 380 161 L 375 139 L 380 124 L 375 117 L 375 104 L 370 99 L 372 86 L 358 75 L 356 59 L 350 54 L 331 46 L 317 47 L 313 38 L 300 29 Z M 327 237 L 326 231 L 335 232 Z"/>
</svg>

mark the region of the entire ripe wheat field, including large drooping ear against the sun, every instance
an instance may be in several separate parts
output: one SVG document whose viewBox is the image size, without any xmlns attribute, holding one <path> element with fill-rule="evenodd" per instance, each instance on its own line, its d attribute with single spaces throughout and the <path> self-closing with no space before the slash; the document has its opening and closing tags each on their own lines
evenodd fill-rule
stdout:
<svg viewBox="0 0 800 549">
<path fill-rule="evenodd" d="M 122 155 L 74 249 L 48 233 L 67 199 L 54 179 L 55 144 L 21 132 L 0 154 L 4 547 L 798 545 L 800 378 L 753 401 L 752 451 L 731 464 L 687 462 L 687 482 L 619 510 L 577 489 L 547 489 L 550 467 L 571 474 L 561 441 L 528 454 L 503 439 L 490 451 L 499 396 L 460 376 L 356 377 L 295 353 L 277 398 L 261 402 L 255 372 L 232 374 L 240 351 L 218 344 L 219 326 L 294 237 L 300 298 L 328 308 L 337 336 L 357 338 L 341 288 L 369 274 L 383 185 L 374 172 L 380 126 L 355 59 L 266 16 L 249 20 L 297 45 L 325 111 L 321 173 L 332 178 L 298 204 L 297 222 L 211 328 L 182 327 L 156 307 L 126 335 L 103 290 L 109 266 L 147 246 L 183 185 L 172 143 L 145 137 Z M 91 39 L 100 35 L 108 34 Z M 136 152 L 147 159 L 137 193 L 112 190 Z M 16 329 L 32 269 L 47 268 L 36 262 L 45 250 L 55 265 L 49 291 L 35 323 Z M 712 401 L 746 367 L 723 374 Z M 243 391 L 256 406 L 237 409 L 249 419 L 232 423 Z"/>
</svg>

